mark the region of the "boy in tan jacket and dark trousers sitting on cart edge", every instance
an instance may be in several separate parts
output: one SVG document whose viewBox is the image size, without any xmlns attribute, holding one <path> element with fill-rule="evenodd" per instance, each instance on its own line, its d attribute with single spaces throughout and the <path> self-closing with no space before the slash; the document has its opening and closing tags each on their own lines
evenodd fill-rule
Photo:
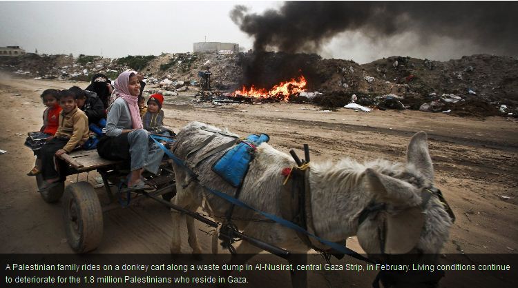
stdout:
<svg viewBox="0 0 518 288">
<path fill-rule="evenodd" d="M 70 153 L 77 145 L 88 140 L 88 117 L 77 108 L 75 93 L 70 90 L 59 92 L 59 105 L 62 110 L 59 113 L 57 132 L 52 140 L 41 147 L 39 153 L 42 164 L 41 176 L 48 183 L 46 187 L 60 180 L 55 164 L 61 163 L 58 164 L 61 167 L 63 163 L 55 161 L 54 156 Z M 66 175 L 61 175 L 61 178 L 64 176 Z"/>
</svg>

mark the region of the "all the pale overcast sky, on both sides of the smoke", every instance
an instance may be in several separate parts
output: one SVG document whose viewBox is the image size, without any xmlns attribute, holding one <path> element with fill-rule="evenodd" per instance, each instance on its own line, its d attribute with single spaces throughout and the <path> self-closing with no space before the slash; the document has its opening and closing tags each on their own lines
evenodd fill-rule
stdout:
<svg viewBox="0 0 518 288">
<path fill-rule="evenodd" d="M 229 12 L 236 5 L 261 14 L 281 1 L 0 1 L 0 46 L 19 45 L 39 54 L 121 57 L 192 52 L 202 41 L 252 47 Z M 205 38 L 207 37 L 207 38 Z M 439 61 L 463 55 L 492 53 L 458 39 L 435 37 L 428 45 L 412 45 L 412 33 L 372 42 L 360 32 L 343 32 L 323 45 L 325 58 L 367 63 L 402 55 Z M 387 45 L 390 44 L 390 45 Z"/>
</svg>

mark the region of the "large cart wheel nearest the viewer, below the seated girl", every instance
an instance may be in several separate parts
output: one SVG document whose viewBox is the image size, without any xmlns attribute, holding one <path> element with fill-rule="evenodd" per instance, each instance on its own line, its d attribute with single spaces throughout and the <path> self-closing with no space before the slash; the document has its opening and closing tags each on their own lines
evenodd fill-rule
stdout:
<svg viewBox="0 0 518 288">
<path fill-rule="evenodd" d="M 63 198 L 63 216 L 68 245 L 77 253 L 91 251 L 101 243 L 102 208 L 88 182 L 70 184 Z"/>
</svg>

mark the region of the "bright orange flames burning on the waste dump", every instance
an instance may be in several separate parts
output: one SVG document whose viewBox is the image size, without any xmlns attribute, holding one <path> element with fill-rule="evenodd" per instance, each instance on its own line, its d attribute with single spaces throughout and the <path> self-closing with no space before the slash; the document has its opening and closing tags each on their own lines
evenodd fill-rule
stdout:
<svg viewBox="0 0 518 288">
<path fill-rule="evenodd" d="M 278 85 L 275 85 L 270 90 L 266 90 L 264 88 L 256 88 L 255 86 L 251 86 L 250 89 L 247 90 L 243 86 L 241 90 L 236 90 L 236 92 L 233 92 L 232 96 L 247 96 L 247 97 L 253 97 L 256 99 L 279 99 L 282 101 L 287 102 L 289 99 L 289 96 L 304 92 L 306 87 L 307 81 L 304 78 L 304 76 L 300 76 L 298 81 L 295 79 L 291 79 L 286 82 L 281 82 Z"/>
</svg>

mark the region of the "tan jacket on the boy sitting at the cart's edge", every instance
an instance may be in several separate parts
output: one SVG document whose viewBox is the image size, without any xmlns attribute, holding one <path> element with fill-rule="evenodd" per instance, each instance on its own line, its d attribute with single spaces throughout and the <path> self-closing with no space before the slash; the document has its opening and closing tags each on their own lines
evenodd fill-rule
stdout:
<svg viewBox="0 0 518 288">
<path fill-rule="evenodd" d="M 88 117 L 77 106 L 70 113 L 59 112 L 59 127 L 55 135 L 57 138 L 68 138 L 63 150 L 72 152 L 77 145 L 88 140 Z"/>
</svg>

